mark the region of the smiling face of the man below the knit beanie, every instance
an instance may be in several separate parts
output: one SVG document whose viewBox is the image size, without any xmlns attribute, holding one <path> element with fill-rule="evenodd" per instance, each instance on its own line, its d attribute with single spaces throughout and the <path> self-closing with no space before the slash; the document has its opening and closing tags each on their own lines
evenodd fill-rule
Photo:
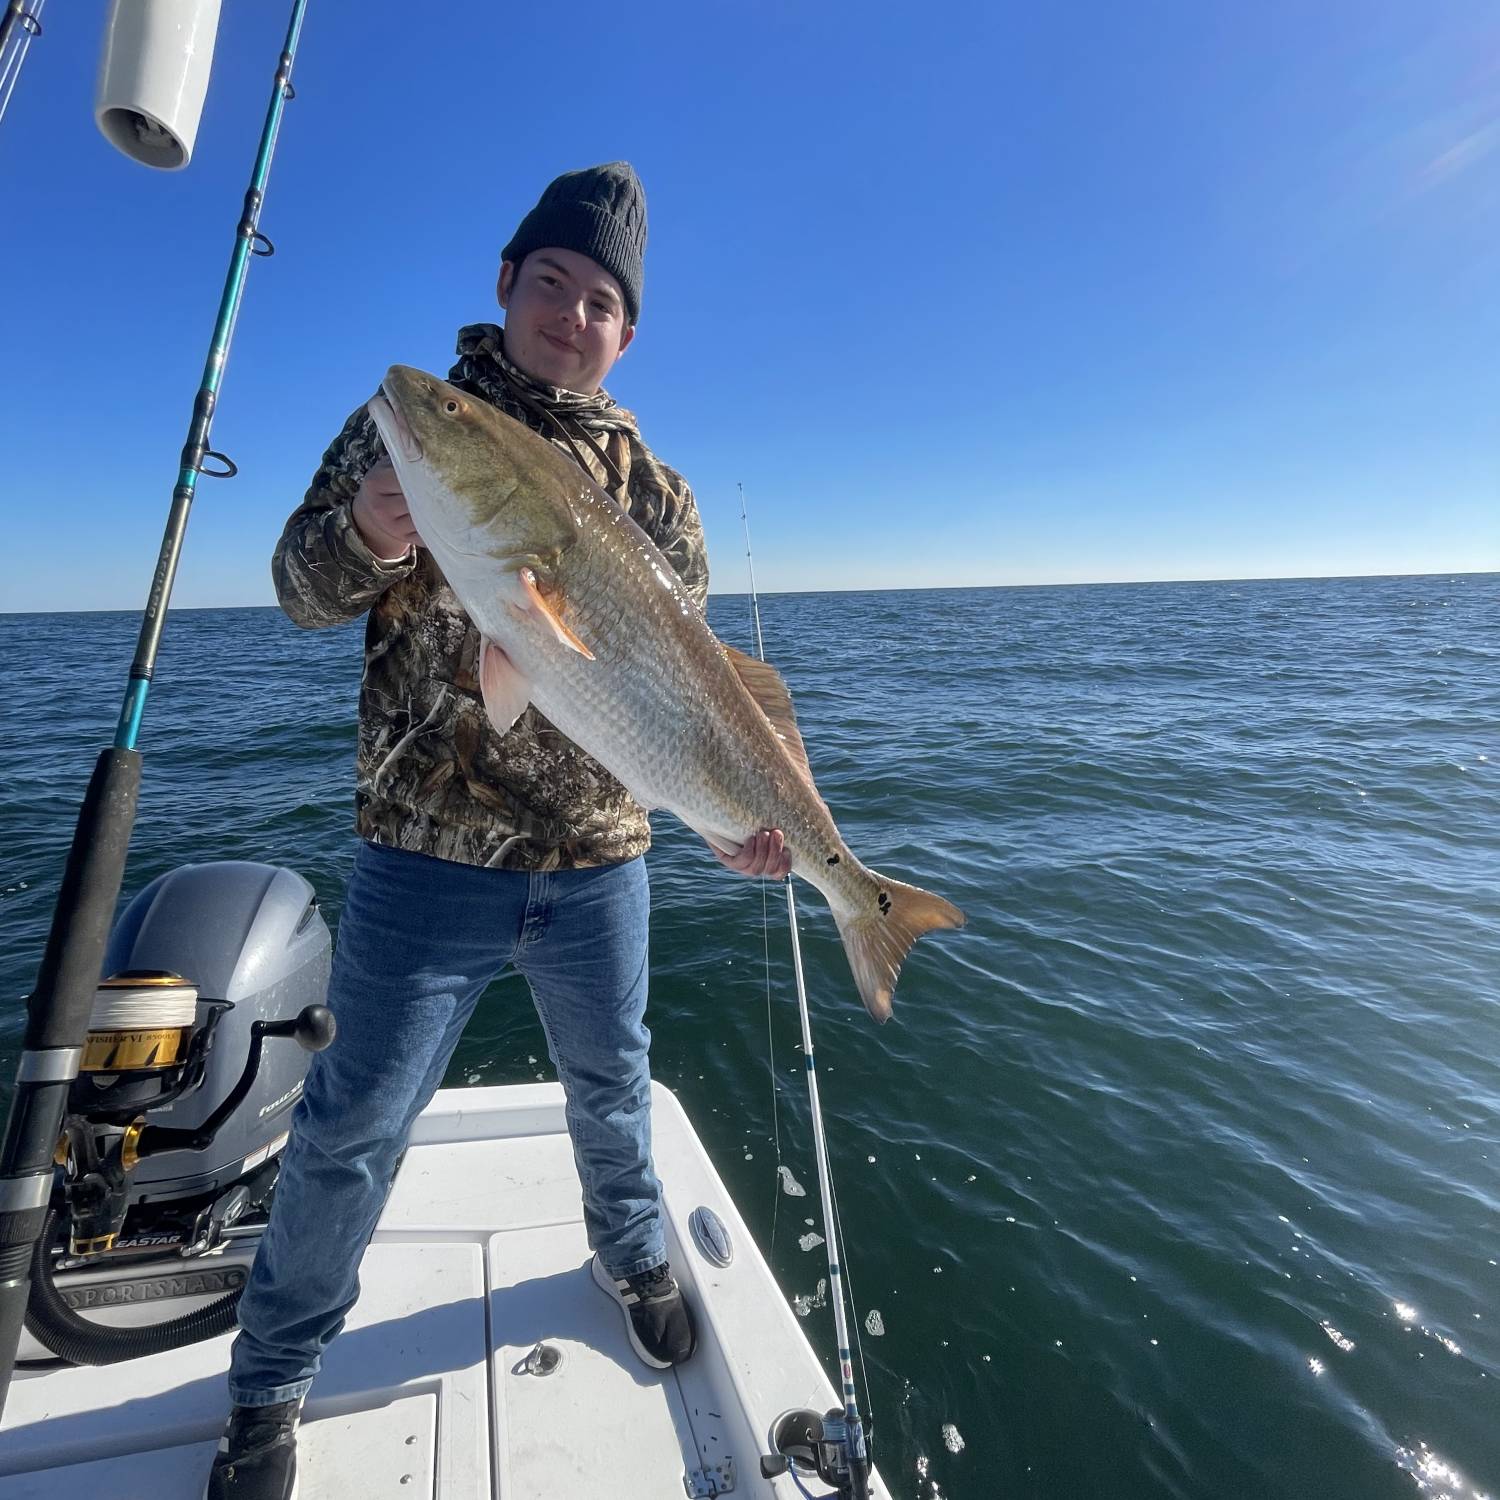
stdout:
<svg viewBox="0 0 1500 1500">
<path fill-rule="evenodd" d="M 532 250 L 520 270 L 506 261 L 496 288 L 506 309 L 506 354 L 532 380 L 591 396 L 626 352 L 620 282 L 578 250 Z"/>
</svg>

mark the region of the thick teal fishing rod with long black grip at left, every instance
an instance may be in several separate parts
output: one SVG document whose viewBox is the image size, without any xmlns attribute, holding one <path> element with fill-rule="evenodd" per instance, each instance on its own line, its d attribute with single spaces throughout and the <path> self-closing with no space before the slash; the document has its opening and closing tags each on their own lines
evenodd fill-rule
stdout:
<svg viewBox="0 0 1500 1500">
<path fill-rule="evenodd" d="M 308 0 L 292 0 L 286 39 L 276 63 L 270 105 L 236 228 L 234 252 L 230 256 L 202 381 L 194 400 L 188 442 L 182 452 L 177 486 L 172 490 L 114 744 L 99 753 L 84 792 L 36 990 L 27 999 L 26 1038 L 4 1140 L 0 1144 L 0 1414 L 4 1413 L 32 1290 L 32 1254 L 42 1233 L 52 1191 L 52 1154 L 62 1132 L 69 1089 L 82 1059 L 105 945 L 124 878 L 124 856 L 141 789 L 141 754 L 135 742 L 166 622 L 166 604 L 182 556 L 188 513 L 200 476 L 231 478 L 237 472 L 234 464 L 208 447 L 210 429 L 250 256 L 272 255 L 274 250 L 260 231 L 261 204 L 282 111 L 292 98 L 291 66 L 297 56 L 306 4 Z M 33 15 L 34 9 L 33 4 Z M 142 118 L 141 124 L 150 128 L 153 122 Z M 222 466 L 206 468 L 208 459 Z"/>
</svg>

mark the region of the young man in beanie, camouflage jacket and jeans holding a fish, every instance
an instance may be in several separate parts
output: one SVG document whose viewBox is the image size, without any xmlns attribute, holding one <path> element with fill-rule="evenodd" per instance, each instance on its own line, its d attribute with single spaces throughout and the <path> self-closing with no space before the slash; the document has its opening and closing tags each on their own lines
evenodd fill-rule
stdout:
<svg viewBox="0 0 1500 1500">
<path fill-rule="evenodd" d="M 624 162 L 554 182 L 502 252 L 494 324 L 459 332 L 448 375 L 572 454 L 651 536 L 702 608 L 708 560 L 682 477 L 602 381 L 636 333 L 645 195 Z M 328 1005 L 272 1221 L 240 1302 L 234 1410 L 210 1500 L 288 1500 L 296 1425 L 411 1125 L 474 1004 L 504 969 L 531 986 L 568 1096 L 592 1278 L 657 1370 L 693 1352 L 651 1168 L 645 813 L 536 710 L 484 717 L 478 634 L 422 549 L 360 408 L 324 454 L 273 560 L 303 627 L 368 612 L 357 831 Z M 783 876 L 778 831 L 729 868 Z"/>
</svg>

